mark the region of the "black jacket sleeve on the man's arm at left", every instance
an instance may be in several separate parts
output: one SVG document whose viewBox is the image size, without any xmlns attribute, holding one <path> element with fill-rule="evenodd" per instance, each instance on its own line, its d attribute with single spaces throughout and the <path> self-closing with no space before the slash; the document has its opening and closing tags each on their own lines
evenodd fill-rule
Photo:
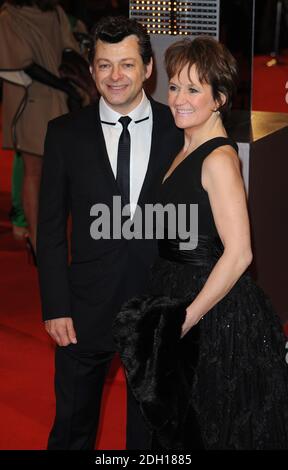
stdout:
<svg viewBox="0 0 288 470">
<path fill-rule="evenodd" d="M 71 316 L 68 176 L 59 142 L 57 128 L 51 122 L 45 141 L 37 231 L 37 264 L 44 320 Z"/>
</svg>

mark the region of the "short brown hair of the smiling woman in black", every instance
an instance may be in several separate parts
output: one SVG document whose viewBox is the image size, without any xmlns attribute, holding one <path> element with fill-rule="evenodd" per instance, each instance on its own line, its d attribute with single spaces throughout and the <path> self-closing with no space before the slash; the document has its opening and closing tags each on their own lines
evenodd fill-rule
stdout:
<svg viewBox="0 0 288 470">
<path fill-rule="evenodd" d="M 209 36 L 184 39 L 168 47 L 165 65 L 169 80 L 188 64 L 188 74 L 192 65 L 196 66 L 200 83 L 211 85 L 212 95 L 219 103 L 218 111 L 225 117 L 232 105 L 236 91 L 237 64 L 228 49 Z M 226 97 L 221 105 L 220 93 Z"/>
</svg>

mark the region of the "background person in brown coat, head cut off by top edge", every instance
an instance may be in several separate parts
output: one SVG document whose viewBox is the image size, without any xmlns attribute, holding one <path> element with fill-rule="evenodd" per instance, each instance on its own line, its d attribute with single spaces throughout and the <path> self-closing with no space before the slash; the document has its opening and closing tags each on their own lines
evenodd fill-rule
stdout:
<svg viewBox="0 0 288 470">
<path fill-rule="evenodd" d="M 50 119 L 68 112 L 67 94 L 53 88 L 64 48 L 78 50 L 57 0 L 10 0 L 0 13 L 3 147 L 21 152 L 23 208 L 35 250 L 44 139 Z M 46 79 L 51 82 L 46 84 Z M 73 87 L 69 87 L 69 91 Z"/>
</svg>

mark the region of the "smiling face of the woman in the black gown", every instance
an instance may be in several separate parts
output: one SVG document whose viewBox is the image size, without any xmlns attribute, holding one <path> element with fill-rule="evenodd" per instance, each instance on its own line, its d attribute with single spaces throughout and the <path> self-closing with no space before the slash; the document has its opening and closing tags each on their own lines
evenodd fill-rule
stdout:
<svg viewBox="0 0 288 470">
<path fill-rule="evenodd" d="M 188 64 L 169 80 L 168 104 L 180 129 L 195 129 L 206 124 L 219 107 L 211 85 L 200 83 L 195 65 L 188 75 Z"/>
</svg>

